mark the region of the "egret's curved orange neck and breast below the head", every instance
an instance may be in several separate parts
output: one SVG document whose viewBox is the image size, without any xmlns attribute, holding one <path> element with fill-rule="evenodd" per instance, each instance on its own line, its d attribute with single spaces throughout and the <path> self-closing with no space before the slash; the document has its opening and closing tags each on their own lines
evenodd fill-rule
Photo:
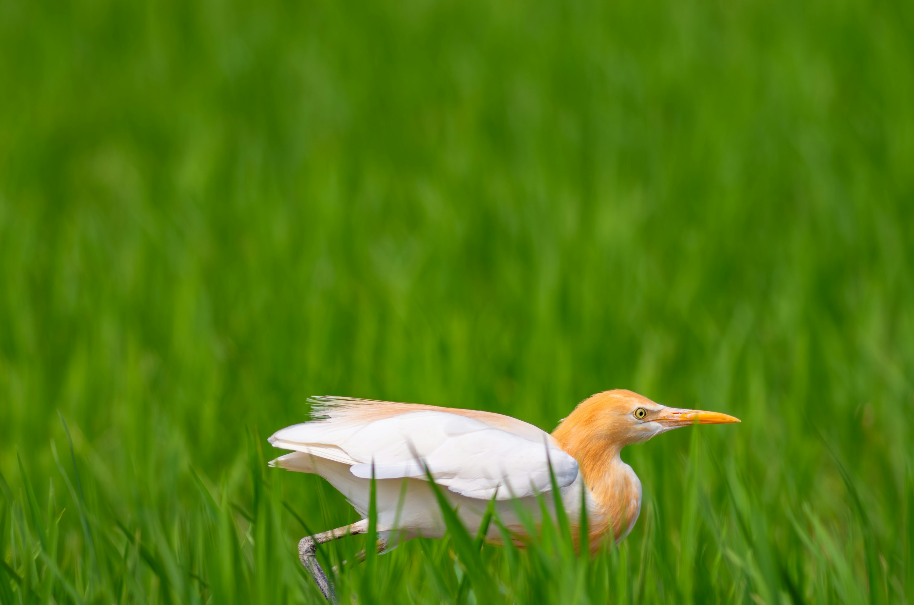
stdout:
<svg viewBox="0 0 914 605">
<path fill-rule="evenodd" d="M 581 476 L 596 504 L 598 517 L 590 522 L 591 545 L 612 532 L 618 541 L 628 535 L 641 512 L 641 482 L 622 462 L 622 448 L 599 436 L 574 430 L 552 433 L 562 450 L 578 461 Z M 598 538 L 598 539 L 593 539 Z"/>
</svg>

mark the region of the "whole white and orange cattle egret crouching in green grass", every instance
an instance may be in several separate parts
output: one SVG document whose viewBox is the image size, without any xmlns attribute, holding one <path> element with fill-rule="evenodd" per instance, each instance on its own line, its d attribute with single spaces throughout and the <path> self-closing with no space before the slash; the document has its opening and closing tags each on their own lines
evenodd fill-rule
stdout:
<svg viewBox="0 0 914 605">
<path fill-rule="evenodd" d="M 313 401 L 313 420 L 270 438 L 273 446 L 293 450 L 271 466 L 324 477 L 363 517 L 299 543 L 299 557 L 327 599 L 333 588 L 315 548 L 367 532 L 373 473 L 378 551 L 396 540 L 444 535 L 427 472 L 447 488 L 441 492 L 470 531 L 479 528 L 492 501 L 502 524 L 524 536 L 517 504 L 541 518 L 537 494 L 552 489 L 550 465 L 575 533 L 583 498 L 590 544 L 596 547 L 602 536 L 622 540 L 641 511 L 641 482 L 622 462 L 623 447 L 690 424 L 739 422 L 717 412 L 667 408 L 624 389 L 585 399 L 551 435 L 522 420 L 474 409 L 340 397 Z M 551 498 L 545 500 L 548 505 Z M 500 542 L 494 525 L 486 539 Z"/>
</svg>

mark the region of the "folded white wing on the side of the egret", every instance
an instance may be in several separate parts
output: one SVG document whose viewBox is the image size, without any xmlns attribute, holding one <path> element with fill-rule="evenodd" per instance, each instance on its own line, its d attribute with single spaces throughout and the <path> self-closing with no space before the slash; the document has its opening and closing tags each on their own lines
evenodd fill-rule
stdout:
<svg viewBox="0 0 914 605">
<path fill-rule="evenodd" d="M 558 487 L 578 476 L 578 462 L 546 432 L 541 441 L 496 429 L 444 411 L 420 410 L 387 418 L 320 419 L 277 431 L 270 442 L 284 450 L 350 464 L 356 477 L 426 479 L 471 498 L 525 497 L 551 489 L 549 464 Z"/>
</svg>

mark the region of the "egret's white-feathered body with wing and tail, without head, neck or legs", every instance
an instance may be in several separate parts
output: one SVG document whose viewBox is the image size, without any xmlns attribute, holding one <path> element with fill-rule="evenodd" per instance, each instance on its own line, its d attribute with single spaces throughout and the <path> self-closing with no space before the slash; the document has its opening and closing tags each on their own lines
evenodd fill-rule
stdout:
<svg viewBox="0 0 914 605">
<path fill-rule="evenodd" d="M 493 498 L 505 525 L 522 524 L 516 504 L 506 502 L 511 498 L 537 521 L 536 495 L 551 490 L 550 463 L 569 512 L 579 510 L 578 462 L 531 424 L 487 412 L 366 399 L 315 402 L 314 420 L 270 438 L 273 446 L 293 451 L 271 464 L 321 475 L 363 516 L 374 465 L 378 530 L 385 537 L 394 530 L 404 537 L 443 535 L 423 462 L 473 532 Z M 551 500 L 546 498 L 547 506 Z M 490 537 L 497 537 L 494 525 Z"/>
</svg>

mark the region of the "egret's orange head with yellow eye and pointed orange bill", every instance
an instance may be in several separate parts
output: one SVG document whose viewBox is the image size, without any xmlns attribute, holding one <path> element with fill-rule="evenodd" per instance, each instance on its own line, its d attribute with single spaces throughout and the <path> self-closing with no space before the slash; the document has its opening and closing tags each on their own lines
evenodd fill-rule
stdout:
<svg viewBox="0 0 914 605">
<path fill-rule="evenodd" d="M 581 401 L 553 436 L 559 443 L 619 451 L 667 430 L 690 424 L 724 424 L 739 419 L 701 409 L 667 408 L 624 388 Z M 590 446 L 590 447 L 586 447 Z M 578 449 L 578 448 L 574 448 Z"/>
</svg>

